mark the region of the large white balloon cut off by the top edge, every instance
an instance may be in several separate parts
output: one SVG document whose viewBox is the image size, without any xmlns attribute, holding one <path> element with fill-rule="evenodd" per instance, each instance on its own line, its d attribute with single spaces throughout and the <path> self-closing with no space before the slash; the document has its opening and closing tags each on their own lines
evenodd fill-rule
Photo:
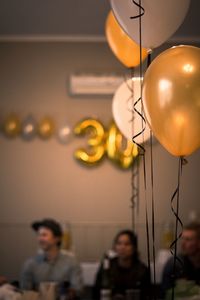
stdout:
<svg viewBox="0 0 200 300">
<path fill-rule="evenodd" d="M 132 0 L 110 0 L 116 19 L 124 31 L 140 43 L 139 8 Z M 142 47 L 153 49 L 163 44 L 182 24 L 188 11 L 190 0 L 143 0 L 145 9 L 141 17 Z"/>
</svg>

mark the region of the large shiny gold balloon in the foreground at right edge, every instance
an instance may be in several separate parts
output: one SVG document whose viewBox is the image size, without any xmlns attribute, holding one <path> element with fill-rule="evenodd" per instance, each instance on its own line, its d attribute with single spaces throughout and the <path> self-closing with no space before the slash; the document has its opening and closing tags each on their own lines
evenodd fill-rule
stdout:
<svg viewBox="0 0 200 300">
<path fill-rule="evenodd" d="M 173 155 L 200 147 L 200 48 L 172 47 L 146 71 L 143 103 L 148 123 Z"/>
</svg>

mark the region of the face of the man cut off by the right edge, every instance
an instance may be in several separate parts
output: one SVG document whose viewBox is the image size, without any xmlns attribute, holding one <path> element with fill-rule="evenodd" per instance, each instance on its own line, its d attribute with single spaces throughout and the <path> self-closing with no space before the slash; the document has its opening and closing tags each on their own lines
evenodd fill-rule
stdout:
<svg viewBox="0 0 200 300">
<path fill-rule="evenodd" d="M 200 252 L 200 240 L 194 230 L 184 230 L 181 239 L 181 252 L 191 256 Z"/>
</svg>

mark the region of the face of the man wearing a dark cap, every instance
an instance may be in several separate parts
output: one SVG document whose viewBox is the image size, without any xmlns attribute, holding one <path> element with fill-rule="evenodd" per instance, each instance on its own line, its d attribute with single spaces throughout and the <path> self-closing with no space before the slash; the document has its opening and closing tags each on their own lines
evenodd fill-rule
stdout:
<svg viewBox="0 0 200 300">
<path fill-rule="evenodd" d="M 46 227 L 39 228 L 37 238 L 40 248 L 44 251 L 55 247 L 59 241 L 59 237 L 56 237 L 53 232 Z"/>
</svg>

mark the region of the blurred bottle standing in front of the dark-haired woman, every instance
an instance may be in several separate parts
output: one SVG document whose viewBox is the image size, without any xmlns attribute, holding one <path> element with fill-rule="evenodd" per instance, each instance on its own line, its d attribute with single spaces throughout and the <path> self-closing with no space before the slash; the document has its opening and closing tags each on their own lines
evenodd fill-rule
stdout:
<svg viewBox="0 0 200 300">
<path fill-rule="evenodd" d="M 102 283 L 100 291 L 101 300 L 111 300 L 112 287 L 110 278 L 110 260 L 107 255 L 103 259 L 103 273 L 102 273 Z"/>
</svg>

